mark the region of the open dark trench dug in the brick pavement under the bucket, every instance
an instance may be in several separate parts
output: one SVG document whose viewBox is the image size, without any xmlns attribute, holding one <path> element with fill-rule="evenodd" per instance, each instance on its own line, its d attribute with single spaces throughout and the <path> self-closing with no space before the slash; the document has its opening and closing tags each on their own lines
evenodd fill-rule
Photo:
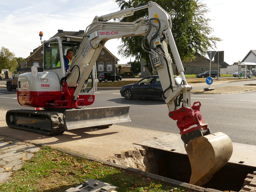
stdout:
<svg viewBox="0 0 256 192">
<path fill-rule="evenodd" d="M 189 183 L 191 176 L 191 166 L 187 155 L 160 149 L 148 148 L 143 155 L 136 150 L 132 151 L 132 156 L 111 157 L 107 161 L 185 183 Z M 240 191 L 247 174 L 252 174 L 254 171 L 256 167 L 227 163 L 201 187 L 220 191 Z"/>
</svg>

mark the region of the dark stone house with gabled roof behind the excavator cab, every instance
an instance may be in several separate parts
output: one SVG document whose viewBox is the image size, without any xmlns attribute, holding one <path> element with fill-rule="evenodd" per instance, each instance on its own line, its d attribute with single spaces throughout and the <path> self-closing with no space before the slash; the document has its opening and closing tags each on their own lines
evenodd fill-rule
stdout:
<svg viewBox="0 0 256 192">
<path fill-rule="evenodd" d="M 79 31 L 58 30 L 58 33 L 56 33 L 52 37 L 57 37 L 57 36 L 58 37 L 61 37 L 61 36 L 62 37 L 63 36 L 83 37 L 84 30 L 79 30 Z M 67 51 L 67 50 L 65 50 L 65 51 Z M 41 46 L 37 47 L 36 49 L 34 49 L 33 52 L 30 52 L 30 55 L 25 60 L 27 61 L 27 67 L 31 67 L 33 65 L 35 65 L 37 67 L 44 66 L 44 46 L 41 45 Z M 115 72 L 115 71 L 117 72 L 118 65 L 119 65 L 119 64 L 117 64 L 118 61 L 119 61 L 119 59 L 115 55 L 113 55 L 106 47 L 103 47 L 98 56 L 98 59 L 96 60 L 97 73 Z M 130 71 L 131 65 L 129 67 L 128 65 L 125 64 L 125 66 L 123 66 L 123 68 L 124 69 L 121 70 L 121 72 L 122 71 Z"/>
</svg>

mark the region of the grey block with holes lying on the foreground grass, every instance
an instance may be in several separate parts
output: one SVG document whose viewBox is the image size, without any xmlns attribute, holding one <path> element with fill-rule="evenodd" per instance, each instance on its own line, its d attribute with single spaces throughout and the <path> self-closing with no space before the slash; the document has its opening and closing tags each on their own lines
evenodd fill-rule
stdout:
<svg viewBox="0 0 256 192">
<path fill-rule="evenodd" d="M 90 191 L 90 192 L 111 192 L 118 190 L 119 187 L 114 185 L 110 185 L 108 183 L 104 183 L 102 181 L 96 179 L 88 179 L 84 181 L 81 185 L 77 186 L 76 188 L 69 188 L 65 192 L 78 192 L 78 191 Z"/>
</svg>

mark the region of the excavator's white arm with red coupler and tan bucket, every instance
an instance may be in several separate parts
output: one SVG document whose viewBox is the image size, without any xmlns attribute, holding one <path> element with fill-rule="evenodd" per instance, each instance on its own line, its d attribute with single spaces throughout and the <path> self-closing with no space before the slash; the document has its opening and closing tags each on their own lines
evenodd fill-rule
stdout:
<svg viewBox="0 0 256 192">
<path fill-rule="evenodd" d="M 135 11 L 148 8 L 148 18 L 139 18 L 134 22 L 110 22 L 132 15 Z M 231 157 L 233 147 L 229 137 L 222 132 L 212 134 L 208 124 L 200 112 L 200 102 L 191 107 L 190 92 L 192 86 L 188 85 L 184 76 L 179 52 L 172 36 L 172 22 L 170 15 L 158 4 L 149 1 L 147 5 L 138 8 L 129 8 L 103 16 L 95 16 L 93 22 L 86 28 L 83 40 L 79 46 L 69 69 L 65 81 L 68 87 L 76 87 L 74 100 L 84 86 L 94 63 L 110 39 L 144 36 L 141 44 L 148 52 L 153 70 L 157 71 L 163 88 L 163 97 L 169 109 L 169 117 L 177 121 L 181 139 L 187 151 L 192 175 L 190 183 L 203 185 L 212 175 L 223 167 Z M 149 47 L 145 44 L 148 40 Z M 170 45 L 177 69 L 182 77 L 182 84 L 177 88 L 172 72 L 172 59 L 168 53 L 167 44 Z M 78 82 L 76 79 L 80 76 Z M 194 126 L 194 127 L 192 127 Z"/>
</svg>

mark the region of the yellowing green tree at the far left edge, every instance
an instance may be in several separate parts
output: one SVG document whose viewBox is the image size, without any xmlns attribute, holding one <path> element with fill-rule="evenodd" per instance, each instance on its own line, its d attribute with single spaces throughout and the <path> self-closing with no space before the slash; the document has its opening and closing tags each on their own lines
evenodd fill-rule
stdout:
<svg viewBox="0 0 256 192">
<path fill-rule="evenodd" d="M 14 72 L 18 67 L 18 62 L 15 58 L 15 54 L 10 52 L 9 49 L 2 47 L 0 51 L 0 64 L 2 69 L 9 69 Z"/>
</svg>

